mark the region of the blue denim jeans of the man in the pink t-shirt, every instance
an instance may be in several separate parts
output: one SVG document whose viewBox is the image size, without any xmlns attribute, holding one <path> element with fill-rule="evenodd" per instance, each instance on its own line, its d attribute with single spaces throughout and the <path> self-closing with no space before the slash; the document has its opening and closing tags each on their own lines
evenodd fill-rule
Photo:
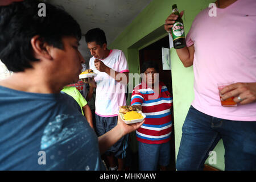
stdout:
<svg viewBox="0 0 256 182">
<path fill-rule="evenodd" d="M 225 170 L 256 170 L 256 121 L 215 118 L 191 106 L 182 131 L 177 170 L 203 170 L 209 151 L 220 139 L 225 148 Z"/>
</svg>

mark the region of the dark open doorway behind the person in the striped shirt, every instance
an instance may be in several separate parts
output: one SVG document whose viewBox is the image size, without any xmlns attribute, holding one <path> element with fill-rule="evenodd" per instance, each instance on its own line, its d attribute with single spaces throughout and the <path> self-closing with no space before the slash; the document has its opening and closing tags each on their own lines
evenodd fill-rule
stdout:
<svg viewBox="0 0 256 182">
<path fill-rule="evenodd" d="M 139 64 L 140 68 L 144 61 L 156 61 L 159 66 L 159 81 L 163 81 L 164 84 L 167 86 L 168 91 L 172 95 L 172 77 L 171 77 L 171 70 L 163 70 L 162 64 L 162 47 L 169 48 L 169 38 L 168 35 L 164 38 L 150 44 L 147 47 L 139 50 Z M 141 71 L 142 73 L 142 71 Z M 171 110 L 172 113 L 173 107 Z M 174 115 L 172 114 L 172 134 L 171 134 L 171 158 L 170 164 L 168 166 L 168 170 L 175 170 L 175 139 L 174 139 Z"/>
</svg>

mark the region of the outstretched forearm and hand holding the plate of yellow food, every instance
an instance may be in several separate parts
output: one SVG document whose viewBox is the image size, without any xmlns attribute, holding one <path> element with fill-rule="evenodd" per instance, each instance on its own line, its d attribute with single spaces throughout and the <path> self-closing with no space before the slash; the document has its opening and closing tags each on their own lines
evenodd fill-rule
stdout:
<svg viewBox="0 0 256 182">
<path fill-rule="evenodd" d="M 113 144 L 115 144 L 121 137 L 137 130 L 143 123 L 144 120 L 139 123 L 127 125 L 118 115 L 117 126 L 104 135 L 101 135 L 101 137 L 98 137 L 98 144 L 101 154 L 104 154 L 104 152 L 113 146 Z"/>
</svg>

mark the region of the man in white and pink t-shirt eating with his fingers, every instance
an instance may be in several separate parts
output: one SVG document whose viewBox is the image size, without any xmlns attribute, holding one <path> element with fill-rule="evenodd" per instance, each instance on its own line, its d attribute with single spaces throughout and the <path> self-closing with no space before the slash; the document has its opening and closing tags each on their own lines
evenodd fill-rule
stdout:
<svg viewBox="0 0 256 182">
<path fill-rule="evenodd" d="M 91 88 L 96 88 L 95 113 L 96 133 L 100 137 L 117 125 L 119 106 L 126 105 L 126 85 L 129 81 L 126 57 L 121 50 L 107 48 L 106 36 L 100 28 L 93 28 L 85 35 L 90 53 L 89 67 L 97 73 L 88 79 Z M 89 89 L 92 92 L 93 89 Z M 107 152 L 110 170 L 123 170 L 128 135 L 121 138 Z M 115 157 L 115 158 L 114 158 Z"/>
</svg>

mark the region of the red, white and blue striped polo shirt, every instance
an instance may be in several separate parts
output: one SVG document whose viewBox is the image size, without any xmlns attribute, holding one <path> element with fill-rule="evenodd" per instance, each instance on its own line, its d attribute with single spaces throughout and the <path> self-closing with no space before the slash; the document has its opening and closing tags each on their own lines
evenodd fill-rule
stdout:
<svg viewBox="0 0 256 182">
<path fill-rule="evenodd" d="M 171 139 L 172 131 L 172 97 L 166 85 L 159 81 L 159 94 L 139 84 L 133 89 L 131 105 L 141 105 L 146 115 L 145 122 L 136 131 L 139 142 L 149 144 L 166 143 Z M 155 98 L 152 98 L 155 95 Z"/>
</svg>

